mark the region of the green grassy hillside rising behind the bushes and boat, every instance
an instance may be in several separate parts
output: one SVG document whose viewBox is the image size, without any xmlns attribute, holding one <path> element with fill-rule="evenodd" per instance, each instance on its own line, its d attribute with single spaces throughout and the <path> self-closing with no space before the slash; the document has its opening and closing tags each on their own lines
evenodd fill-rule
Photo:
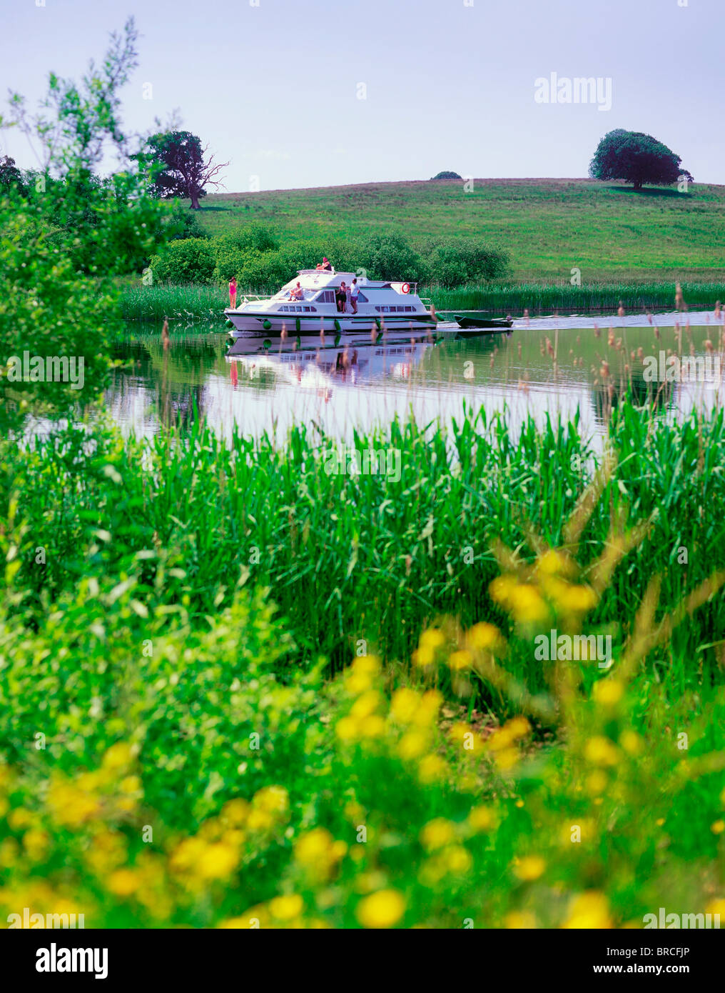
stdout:
<svg viewBox="0 0 725 993">
<path fill-rule="evenodd" d="M 371 183 L 208 196 L 201 225 L 219 234 L 257 220 L 295 236 L 390 231 L 411 241 L 475 235 L 512 256 L 515 281 L 721 280 L 725 186 L 635 192 L 590 180 Z"/>
</svg>

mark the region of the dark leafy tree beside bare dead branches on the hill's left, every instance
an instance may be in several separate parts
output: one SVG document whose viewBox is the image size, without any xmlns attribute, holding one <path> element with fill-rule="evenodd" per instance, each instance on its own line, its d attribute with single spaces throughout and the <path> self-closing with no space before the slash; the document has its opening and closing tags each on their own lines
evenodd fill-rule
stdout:
<svg viewBox="0 0 725 993">
<path fill-rule="evenodd" d="M 169 131 L 155 134 L 147 142 L 147 160 L 154 168 L 154 192 L 158 197 L 187 197 L 194 211 L 199 199 L 206 196 L 205 187 L 218 188 L 215 179 L 228 162 L 214 162 L 206 157 L 208 148 L 190 131 Z"/>
</svg>

